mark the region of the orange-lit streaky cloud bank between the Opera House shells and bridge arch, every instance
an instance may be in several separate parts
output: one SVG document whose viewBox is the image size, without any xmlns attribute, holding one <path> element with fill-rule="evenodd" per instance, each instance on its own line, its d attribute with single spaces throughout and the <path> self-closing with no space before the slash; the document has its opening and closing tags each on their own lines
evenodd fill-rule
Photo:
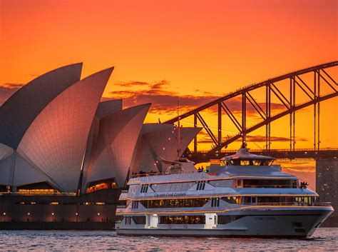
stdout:
<svg viewBox="0 0 338 252">
<path fill-rule="evenodd" d="M 169 82 L 166 80 L 157 81 L 154 83 L 144 81 L 129 81 L 118 82 L 114 84 L 120 88 L 128 88 L 124 90 L 112 91 L 105 99 L 123 99 L 123 104 L 126 106 L 135 106 L 137 104 L 152 103 L 150 113 L 154 114 L 176 114 L 176 104 L 180 101 L 180 113 L 185 113 L 196 109 L 198 106 L 219 99 L 225 94 L 216 95 L 210 91 L 200 91 L 196 89 L 200 95 L 181 95 L 178 92 L 170 90 Z M 232 114 L 242 113 L 242 97 L 236 96 L 232 99 L 225 101 L 227 107 L 232 111 Z M 265 103 L 258 104 L 265 109 Z M 282 104 L 271 104 L 272 110 L 284 110 L 285 107 Z M 205 109 L 208 114 L 217 114 L 217 105 Z M 274 111 L 276 112 L 276 111 Z M 224 113 L 224 112 L 223 112 Z M 224 113 L 225 114 L 225 113 Z M 258 118 L 257 111 L 247 102 L 247 116 Z"/>
</svg>

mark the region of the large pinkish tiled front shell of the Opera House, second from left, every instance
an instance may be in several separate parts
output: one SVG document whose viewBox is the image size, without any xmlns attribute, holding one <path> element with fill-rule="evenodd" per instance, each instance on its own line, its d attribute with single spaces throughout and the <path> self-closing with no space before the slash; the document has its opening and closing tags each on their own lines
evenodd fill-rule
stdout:
<svg viewBox="0 0 338 252">
<path fill-rule="evenodd" d="M 112 71 L 100 71 L 68 87 L 36 116 L 19 143 L 18 153 L 62 191 L 75 192 L 78 187 L 88 134 Z"/>
</svg>

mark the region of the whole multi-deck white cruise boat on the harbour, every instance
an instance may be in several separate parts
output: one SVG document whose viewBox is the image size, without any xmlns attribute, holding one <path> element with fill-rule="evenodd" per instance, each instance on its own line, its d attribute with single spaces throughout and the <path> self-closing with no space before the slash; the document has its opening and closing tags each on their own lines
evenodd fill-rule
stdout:
<svg viewBox="0 0 338 252">
<path fill-rule="evenodd" d="M 333 212 L 275 158 L 237 153 L 198 171 L 188 160 L 130 178 L 118 235 L 309 238 Z"/>
</svg>

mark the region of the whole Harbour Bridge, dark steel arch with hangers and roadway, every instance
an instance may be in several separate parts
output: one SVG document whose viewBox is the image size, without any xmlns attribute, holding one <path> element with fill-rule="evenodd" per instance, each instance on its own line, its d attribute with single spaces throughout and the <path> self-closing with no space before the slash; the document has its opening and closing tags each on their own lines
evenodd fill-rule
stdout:
<svg viewBox="0 0 338 252">
<path fill-rule="evenodd" d="M 186 155 L 193 161 L 200 163 L 209 161 L 213 158 L 220 158 L 225 154 L 233 153 L 227 150 L 227 146 L 235 141 L 245 141 L 247 136 L 259 128 L 265 128 L 265 146 L 257 150 L 252 150 L 253 153 L 265 153 L 276 158 L 337 158 L 338 148 L 321 148 L 320 147 L 320 112 L 321 102 L 337 97 L 337 77 L 332 73 L 338 70 L 338 61 L 332 61 L 326 64 L 311 66 L 306 69 L 293 71 L 289 74 L 284 74 L 271 79 L 267 79 L 257 84 L 244 86 L 242 89 L 232 91 L 220 99 L 215 99 L 208 104 L 204 104 L 192 111 L 180 115 L 180 121 L 190 119 L 193 126 L 201 126 L 206 132 L 206 136 L 210 139 L 212 147 L 208 151 L 198 150 L 198 137 L 194 139 L 193 149 L 188 149 Z M 331 73 L 331 74 L 330 74 Z M 259 95 L 257 95 L 259 94 Z M 259 96 L 259 97 L 258 97 Z M 264 96 L 264 101 L 262 101 Z M 240 118 L 236 116 L 230 108 L 230 101 L 237 99 L 240 101 Z M 277 101 L 280 106 L 276 111 L 273 107 Z M 296 144 L 296 111 L 307 107 L 313 107 L 313 117 L 308 118 L 309 125 L 313 124 L 313 145 L 307 149 L 295 148 Z M 203 111 L 213 109 L 217 116 L 217 128 L 210 128 L 207 120 L 203 117 Z M 334 109 L 334 108 L 332 108 Z M 259 118 L 254 125 L 247 124 L 248 112 L 255 112 Z M 231 132 L 232 135 L 222 136 L 225 131 L 222 129 L 222 119 L 230 119 L 230 124 L 236 128 L 236 132 Z M 290 148 L 287 149 L 272 149 L 271 148 L 271 124 L 273 121 L 289 117 L 288 138 Z M 255 120 L 257 121 L 257 120 Z M 310 123 L 312 121 L 312 123 Z M 165 124 L 175 124 L 178 122 L 178 117 L 165 121 Z M 336 130 L 334 129 L 334 133 Z M 222 150 L 223 149 L 223 150 Z"/>
</svg>

